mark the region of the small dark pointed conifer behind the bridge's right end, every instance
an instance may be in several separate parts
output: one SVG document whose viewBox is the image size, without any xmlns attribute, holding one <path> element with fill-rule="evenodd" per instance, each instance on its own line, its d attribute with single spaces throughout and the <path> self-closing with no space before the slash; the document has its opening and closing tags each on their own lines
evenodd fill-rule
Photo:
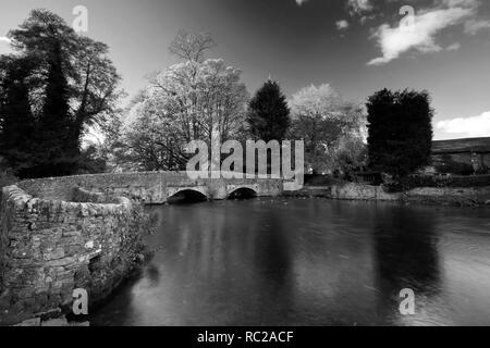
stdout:
<svg viewBox="0 0 490 348">
<path fill-rule="evenodd" d="M 291 124 L 290 108 L 277 82 L 268 80 L 248 104 L 246 116 L 249 133 L 266 142 L 283 140 Z"/>
</svg>

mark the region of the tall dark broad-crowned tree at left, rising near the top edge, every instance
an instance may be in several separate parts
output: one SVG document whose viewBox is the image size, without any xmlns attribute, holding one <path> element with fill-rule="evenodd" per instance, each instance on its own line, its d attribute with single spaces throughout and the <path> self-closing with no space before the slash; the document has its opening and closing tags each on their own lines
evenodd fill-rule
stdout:
<svg viewBox="0 0 490 348">
<path fill-rule="evenodd" d="M 16 51 L 13 60 L 35 62 L 26 78 L 36 133 L 29 144 L 33 149 L 42 149 L 40 153 L 30 151 L 37 163 L 17 157 L 12 165 L 22 177 L 76 173 L 84 132 L 93 124 L 103 128 L 114 117 L 121 96 L 120 77 L 107 57 L 108 48 L 78 36 L 47 10 L 32 11 L 9 37 Z"/>
</svg>

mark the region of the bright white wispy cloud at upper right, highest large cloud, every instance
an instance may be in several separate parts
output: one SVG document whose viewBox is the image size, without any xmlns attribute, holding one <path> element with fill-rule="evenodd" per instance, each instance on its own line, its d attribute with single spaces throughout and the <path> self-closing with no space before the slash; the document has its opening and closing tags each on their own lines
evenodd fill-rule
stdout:
<svg viewBox="0 0 490 348">
<path fill-rule="evenodd" d="M 465 5 L 432 9 L 412 17 L 405 16 L 397 27 L 382 24 L 372 35 L 381 48 L 382 57 L 369 61 L 368 65 L 385 64 L 409 50 L 422 53 L 441 51 L 442 48 L 436 44 L 436 34 L 450 26 L 462 24 L 475 13 L 474 7 L 467 7 L 473 1 L 446 0 L 445 3 Z"/>
</svg>

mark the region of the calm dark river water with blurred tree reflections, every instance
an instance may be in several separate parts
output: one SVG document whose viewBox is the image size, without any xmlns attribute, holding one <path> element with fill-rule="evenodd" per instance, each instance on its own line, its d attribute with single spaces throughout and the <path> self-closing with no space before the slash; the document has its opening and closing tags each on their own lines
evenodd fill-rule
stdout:
<svg viewBox="0 0 490 348">
<path fill-rule="evenodd" d="M 149 208 L 152 261 L 91 325 L 490 325 L 490 211 L 322 199 Z M 400 291 L 415 291 L 415 315 Z"/>
</svg>

